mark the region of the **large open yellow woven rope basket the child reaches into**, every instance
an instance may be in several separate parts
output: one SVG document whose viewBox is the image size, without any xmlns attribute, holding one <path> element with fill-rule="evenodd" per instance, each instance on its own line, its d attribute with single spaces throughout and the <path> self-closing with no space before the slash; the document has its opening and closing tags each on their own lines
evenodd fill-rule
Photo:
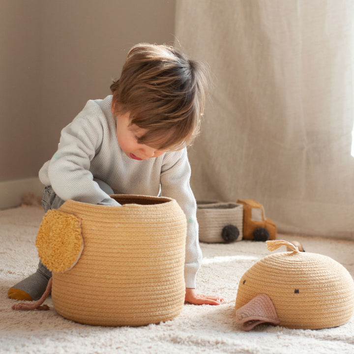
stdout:
<svg viewBox="0 0 354 354">
<path fill-rule="evenodd" d="M 169 198 L 112 197 L 122 207 L 67 201 L 51 210 L 79 220 L 83 247 L 71 241 L 73 259 L 78 258 L 74 265 L 63 257 L 64 266 L 53 266 L 43 242 L 48 232 L 38 233 L 42 262 L 60 269 L 53 271 L 54 307 L 83 324 L 138 326 L 171 320 L 184 303 L 185 215 Z"/>
</svg>

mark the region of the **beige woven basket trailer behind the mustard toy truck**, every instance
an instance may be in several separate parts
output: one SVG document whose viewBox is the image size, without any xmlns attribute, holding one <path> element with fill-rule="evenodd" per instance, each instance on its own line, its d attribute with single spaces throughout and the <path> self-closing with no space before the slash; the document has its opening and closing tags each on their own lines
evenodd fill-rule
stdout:
<svg viewBox="0 0 354 354">
<path fill-rule="evenodd" d="M 225 242 L 222 230 L 227 225 L 237 227 L 242 239 L 243 206 L 237 203 L 198 202 L 197 220 L 199 224 L 199 240 L 203 242 Z"/>
</svg>

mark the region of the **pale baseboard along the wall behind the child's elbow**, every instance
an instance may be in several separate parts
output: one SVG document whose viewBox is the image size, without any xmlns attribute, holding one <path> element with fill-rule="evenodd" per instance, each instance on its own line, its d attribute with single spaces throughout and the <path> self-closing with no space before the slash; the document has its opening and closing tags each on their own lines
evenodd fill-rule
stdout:
<svg viewBox="0 0 354 354">
<path fill-rule="evenodd" d="M 38 177 L 0 181 L 0 209 L 20 206 L 27 192 L 42 197 L 43 189 Z"/>
</svg>

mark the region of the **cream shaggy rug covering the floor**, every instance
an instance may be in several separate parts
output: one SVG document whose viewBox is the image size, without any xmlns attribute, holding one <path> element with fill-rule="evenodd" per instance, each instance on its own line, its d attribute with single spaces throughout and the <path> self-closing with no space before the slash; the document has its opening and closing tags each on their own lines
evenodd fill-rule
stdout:
<svg viewBox="0 0 354 354">
<path fill-rule="evenodd" d="M 19 207 L 0 211 L 0 353 L 354 353 L 354 319 L 321 330 L 259 326 L 244 332 L 235 322 L 240 277 L 269 251 L 264 242 L 202 243 L 198 290 L 221 295 L 219 306 L 185 304 L 174 320 L 143 327 L 77 324 L 50 311 L 13 311 L 7 289 L 31 274 L 38 262 L 34 245 L 43 211 Z M 306 251 L 332 257 L 354 275 L 354 242 L 329 238 L 278 236 L 299 240 Z M 280 249 L 279 251 L 285 251 Z M 296 309 L 294 309 L 296 311 Z"/>
</svg>

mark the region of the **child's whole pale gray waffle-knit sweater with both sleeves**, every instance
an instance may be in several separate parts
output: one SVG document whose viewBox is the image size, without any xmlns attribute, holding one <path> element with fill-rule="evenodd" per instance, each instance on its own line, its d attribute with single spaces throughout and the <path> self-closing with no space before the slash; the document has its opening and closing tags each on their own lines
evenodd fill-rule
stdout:
<svg viewBox="0 0 354 354">
<path fill-rule="evenodd" d="M 137 161 L 119 147 L 116 121 L 111 113 L 112 96 L 90 100 L 61 131 L 58 150 L 39 171 L 44 185 L 51 185 L 63 200 L 119 205 L 103 192 L 93 178 L 108 183 L 117 194 L 170 197 L 187 219 L 184 277 L 187 288 L 195 288 L 202 252 L 198 242 L 196 201 L 189 185 L 187 149 L 168 151 Z"/>
</svg>

